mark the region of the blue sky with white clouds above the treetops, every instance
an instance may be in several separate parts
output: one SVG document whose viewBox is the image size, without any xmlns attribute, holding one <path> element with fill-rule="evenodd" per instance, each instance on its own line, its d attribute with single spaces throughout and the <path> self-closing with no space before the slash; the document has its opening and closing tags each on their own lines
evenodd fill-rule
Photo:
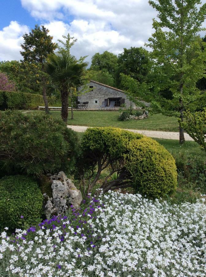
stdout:
<svg viewBox="0 0 206 277">
<path fill-rule="evenodd" d="M 202 1 L 205 3 L 206 0 Z M 54 42 L 70 33 L 77 58 L 105 50 L 144 47 L 153 33 L 156 11 L 147 0 L 0 0 L 0 61 L 20 60 L 22 35 L 46 26 Z M 205 25 L 205 24 L 204 24 Z M 205 25 L 206 26 L 206 25 Z"/>
</svg>

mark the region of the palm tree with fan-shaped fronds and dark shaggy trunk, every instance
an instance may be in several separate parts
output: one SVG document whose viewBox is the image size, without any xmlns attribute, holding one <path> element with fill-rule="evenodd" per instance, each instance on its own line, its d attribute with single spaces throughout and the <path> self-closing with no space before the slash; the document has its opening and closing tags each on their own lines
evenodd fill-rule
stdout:
<svg viewBox="0 0 206 277">
<path fill-rule="evenodd" d="M 48 55 L 45 69 L 52 82 L 58 86 L 62 100 L 62 119 L 67 122 L 68 117 L 68 98 L 71 96 L 71 108 L 73 119 L 72 105 L 72 88 L 81 86 L 86 80 L 85 70 L 87 62 L 79 62 L 75 56 L 69 54 L 65 49 L 61 49 L 55 54 Z"/>
</svg>

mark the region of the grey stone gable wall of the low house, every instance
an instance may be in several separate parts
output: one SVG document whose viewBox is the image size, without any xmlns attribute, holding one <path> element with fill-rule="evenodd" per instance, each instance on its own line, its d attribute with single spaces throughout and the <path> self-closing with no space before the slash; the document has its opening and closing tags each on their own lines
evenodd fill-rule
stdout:
<svg viewBox="0 0 206 277">
<path fill-rule="evenodd" d="M 90 82 L 88 86 L 93 86 L 93 91 L 87 92 L 85 94 L 82 94 L 78 96 L 79 102 L 89 102 L 88 108 L 89 109 L 99 109 L 99 105 L 103 101 L 105 101 L 106 98 L 123 98 L 124 103 L 126 107 L 130 107 L 130 100 L 127 98 L 127 96 L 121 91 L 116 88 L 112 88 L 106 85 L 101 85 L 97 82 Z M 117 109 L 119 107 L 116 107 Z M 132 108 L 135 109 L 136 106 L 132 102 Z"/>
</svg>

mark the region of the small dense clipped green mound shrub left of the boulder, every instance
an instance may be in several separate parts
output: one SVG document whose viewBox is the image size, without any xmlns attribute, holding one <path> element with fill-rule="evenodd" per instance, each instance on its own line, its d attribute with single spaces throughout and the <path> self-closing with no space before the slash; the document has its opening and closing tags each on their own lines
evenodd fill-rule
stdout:
<svg viewBox="0 0 206 277">
<path fill-rule="evenodd" d="M 42 214 L 43 195 L 37 183 L 23 175 L 0 179 L 0 229 L 31 224 Z M 22 217 L 22 218 L 21 218 Z"/>
</svg>

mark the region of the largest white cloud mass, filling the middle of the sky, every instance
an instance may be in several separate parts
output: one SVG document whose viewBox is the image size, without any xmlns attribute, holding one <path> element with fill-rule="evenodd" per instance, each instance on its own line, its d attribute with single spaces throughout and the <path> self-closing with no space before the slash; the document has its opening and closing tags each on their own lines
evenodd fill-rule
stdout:
<svg viewBox="0 0 206 277">
<path fill-rule="evenodd" d="M 152 33 L 156 12 L 146 0 L 21 0 L 32 16 L 42 20 L 54 41 L 62 35 L 78 39 L 77 57 L 105 50 L 119 54 L 123 48 L 144 46 Z M 69 23 L 67 18 L 72 18 Z"/>
</svg>

